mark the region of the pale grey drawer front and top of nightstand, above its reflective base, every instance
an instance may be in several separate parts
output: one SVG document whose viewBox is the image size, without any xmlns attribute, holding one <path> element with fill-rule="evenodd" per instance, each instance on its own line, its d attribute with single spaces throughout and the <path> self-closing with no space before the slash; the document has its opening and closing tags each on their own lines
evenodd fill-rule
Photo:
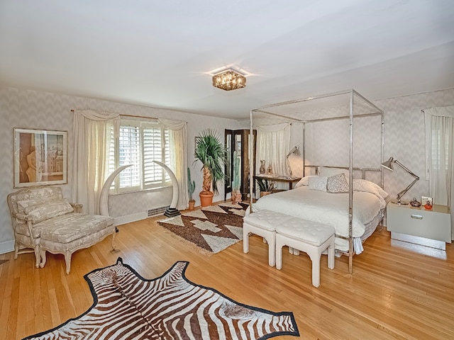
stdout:
<svg viewBox="0 0 454 340">
<path fill-rule="evenodd" d="M 433 210 L 394 203 L 389 203 L 387 206 L 387 229 L 390 232 L 450 243 L 450 222 L 449 209 L 443 205 L 433 205 Z"/>
</svg>

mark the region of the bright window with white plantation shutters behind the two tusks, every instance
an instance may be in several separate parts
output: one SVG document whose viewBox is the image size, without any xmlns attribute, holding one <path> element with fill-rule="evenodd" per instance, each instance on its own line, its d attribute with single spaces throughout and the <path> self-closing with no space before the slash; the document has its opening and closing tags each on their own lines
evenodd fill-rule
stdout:
<svg viewBox="0 0 454 340">
<path fill-rule="evenodd" d="M 170 177 L 162 166 L 170 166 L 169 130 L 159 123 L 123 120 L 114 137 L 114 126 L 108 134 L 109 164 L 111 174 L 118 166 L 133 164 L 121 171 L 112 183 L 111 191 L 139 191 L 170 185 Z"/>
</svg>

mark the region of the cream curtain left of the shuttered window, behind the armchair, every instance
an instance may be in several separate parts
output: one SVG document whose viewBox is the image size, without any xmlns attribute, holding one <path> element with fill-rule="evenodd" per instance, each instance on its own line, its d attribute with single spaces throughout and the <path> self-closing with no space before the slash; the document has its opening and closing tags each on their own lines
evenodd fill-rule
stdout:
<svg viewBox="0 0 454 340">
<path fill-rule="evenodd" d="M 88 214 L 99 214 L 99 196 L 108 166 L 108 122 L 119 124 L 119 114 L 74 111 L 72 201 L 82 203 L 83 211 Z"/>
</svg>

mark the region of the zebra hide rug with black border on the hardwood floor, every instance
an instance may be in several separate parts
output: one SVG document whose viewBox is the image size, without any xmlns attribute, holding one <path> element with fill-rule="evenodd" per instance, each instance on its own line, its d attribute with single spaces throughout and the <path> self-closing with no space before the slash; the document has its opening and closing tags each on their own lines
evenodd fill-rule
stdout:
<svg viewBox="0 0 454 340">
<path fill-rule="evenodd" d="M 270 312 L 187 280 L 176 262 L 147 280 L 123 263 L 84 278 L 94 303 L 80 317 L 25 339 L 268 339 L 299 336 L 292 312 Z"/>
</svg>

